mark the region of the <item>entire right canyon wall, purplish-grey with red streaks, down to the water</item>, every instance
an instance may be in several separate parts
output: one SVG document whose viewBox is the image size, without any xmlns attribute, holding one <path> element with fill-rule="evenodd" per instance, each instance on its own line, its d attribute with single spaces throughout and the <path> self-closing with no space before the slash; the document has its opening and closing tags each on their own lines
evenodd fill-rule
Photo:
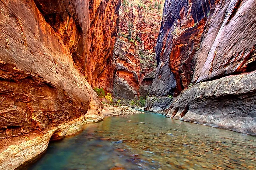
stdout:
<svg viewBox="0 0 256 170">
<path fill-rule="evenodd" d="M 167 117 L 256 134 L 255 7 L 255 0 L 165 1 L 150 97 L 174 96 Z"/>
</svg>

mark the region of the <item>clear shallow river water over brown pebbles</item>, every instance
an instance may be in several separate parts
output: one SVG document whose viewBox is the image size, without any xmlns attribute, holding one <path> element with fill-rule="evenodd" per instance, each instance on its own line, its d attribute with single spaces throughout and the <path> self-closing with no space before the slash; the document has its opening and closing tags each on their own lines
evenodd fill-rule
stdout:
<svg viewBox="0 0 256 170">
<path fill-rule="evenodd" d="M 50 143 L 31 170 L 256 169 L 256 138 L 165 118 L 106 117 L 74 137 Z"/>
</svg>

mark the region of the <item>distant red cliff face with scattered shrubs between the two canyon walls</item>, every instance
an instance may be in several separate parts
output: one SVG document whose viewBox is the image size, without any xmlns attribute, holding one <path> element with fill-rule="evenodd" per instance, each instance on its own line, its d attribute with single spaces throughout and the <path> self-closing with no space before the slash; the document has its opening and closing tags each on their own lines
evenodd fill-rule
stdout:
<svg viewBox="0 0 256 170">
<path fill-rule="evenodd" d="M 156 72 L 155 45 L 161 26 L 162 0 L 123 0 L 114 61 L 113 95 L 119 99 L 146 97 Z"/>
</svg>

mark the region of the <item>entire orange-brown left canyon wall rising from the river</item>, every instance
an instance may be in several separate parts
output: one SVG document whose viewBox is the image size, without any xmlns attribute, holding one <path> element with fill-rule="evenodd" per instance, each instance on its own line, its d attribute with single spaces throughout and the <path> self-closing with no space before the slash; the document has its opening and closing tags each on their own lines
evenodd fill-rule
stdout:
<svg viewBox="0 0 256 170">
<path fill-rule="evenodd" d="M 120 4 L 0 1 L 0 169 L 104 118 L 90 85 L 109 85 Z"/>
</svg>

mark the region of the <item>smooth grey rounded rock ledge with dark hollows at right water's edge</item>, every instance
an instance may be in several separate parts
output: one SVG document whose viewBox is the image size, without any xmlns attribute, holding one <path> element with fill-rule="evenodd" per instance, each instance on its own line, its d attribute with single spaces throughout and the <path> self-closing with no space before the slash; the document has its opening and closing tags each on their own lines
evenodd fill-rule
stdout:
<svg viewBox="0 0 256 170">
<path fill-rule="evenodd" d="M 181 92 L 166 117 L 256 135 L 256 72 L 200 82 Z"/>
</svg>

